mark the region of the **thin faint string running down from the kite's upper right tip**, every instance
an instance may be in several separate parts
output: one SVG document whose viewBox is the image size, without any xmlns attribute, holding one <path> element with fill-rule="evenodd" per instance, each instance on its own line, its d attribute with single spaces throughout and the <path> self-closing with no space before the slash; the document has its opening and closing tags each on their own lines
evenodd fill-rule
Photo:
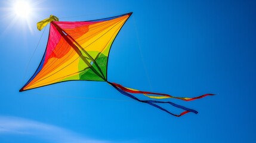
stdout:
<svg viewBox="0 0 256 143">
<path fill-rule="evenodd" d="M 132 19 L 134 21 L 134 29 L 135 29 L 136 38 L 137 38 L 137 41 L 138 41 L 138 49 L 140 51 L 141 61 L 143 63 L 143 68 L 144 68 L 144 71 L 145 71 L 146 76 L 147 76 L 147 82 L 149 83 L 149 86 L 150 86 L 149 88 L 152 90 L 152 84 L 150 82 L 149 73 L 147 72 L 147 69 L 146 69 L 146 64 L 145 64 L 145 61 L 144 61 L 144 58 L 143 58 L 143 54 L 142 54 L 142 50 L 141 50 L 140 40 L 138 38 L 138 30 L 137 30 L 137 25 L 136 25 L 136 22 L 135 22 L 134 15 L 132 15 Z"/>
</svg>

